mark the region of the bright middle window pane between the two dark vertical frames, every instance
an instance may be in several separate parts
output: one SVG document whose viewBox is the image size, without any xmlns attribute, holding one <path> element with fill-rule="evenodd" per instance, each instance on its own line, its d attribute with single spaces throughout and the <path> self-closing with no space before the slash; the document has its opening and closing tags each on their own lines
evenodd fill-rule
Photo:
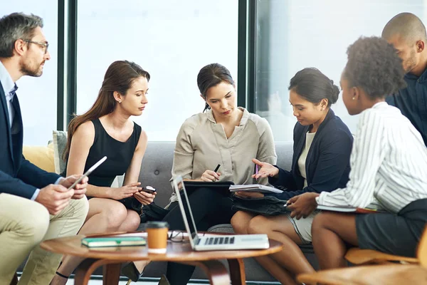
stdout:
<svg viewBox="0 0 427 285">
<path fill-rule="evenodd" d="M 147 108 L 133 120 L 149 140 L 175 140 L 204 110 L 199 70 L 218 62 L 237 78 L 238 1 L 125 2 L 78 3 L 77 113 L 95 102 L 110 63 L 135 61 L 152 78 Z"/>
</svg>

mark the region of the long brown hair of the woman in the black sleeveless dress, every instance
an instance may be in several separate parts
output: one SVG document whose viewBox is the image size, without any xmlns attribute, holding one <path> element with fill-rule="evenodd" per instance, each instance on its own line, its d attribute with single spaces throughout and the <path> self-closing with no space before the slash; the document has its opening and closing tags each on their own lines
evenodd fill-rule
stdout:
<svg viewBox="0 0 427 285">
<path fill-rule="evenodd" d="M 70 154 L 71 139 L 73 138 L 75 130 L 89 120 L 95 120 L 103 115 L 112 113 L 117 104 L 113 96 L 114 91 L 117 91 L 121 95 L 125 95 L 127 90 L 132 87 L 135 79 L 141 76 L 147 78 L 147 81 L 149 81 L 149 73 L 144 71 L 137 63 L 131 61 L 115 61 L 108 66 L 100 92 L 93 106 L 83 115 L 76 115 L 68 125 L 67 147 L 65 147 L 63 153 L 64 160 L 67 160 Z"/>
</svg>

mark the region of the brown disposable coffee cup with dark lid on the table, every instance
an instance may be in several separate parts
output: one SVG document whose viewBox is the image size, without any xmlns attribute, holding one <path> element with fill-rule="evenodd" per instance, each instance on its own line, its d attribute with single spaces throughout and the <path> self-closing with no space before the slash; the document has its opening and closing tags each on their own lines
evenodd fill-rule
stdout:
<svg viewBox="0 0 427 285">
<path fill-rule="evenodd" d="M 147 247 L 150 254 L 165 254 L 167 247 L 167 222 L 147 222 Z"/>
</svg>

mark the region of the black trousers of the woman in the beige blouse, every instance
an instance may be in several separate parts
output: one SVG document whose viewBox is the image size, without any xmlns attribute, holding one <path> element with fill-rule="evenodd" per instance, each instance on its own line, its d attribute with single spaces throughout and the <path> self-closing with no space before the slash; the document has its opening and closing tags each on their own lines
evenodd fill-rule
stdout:
<svg viewBox="0 0 427 285">
<path fill-rule="evenodd" d="M 184 198 L 184 196 L 181 196 Z M 183 199 L 186 207 L 185 199 Z M 234 212 L 231 210 L 233 201 L 215 189 L 199 188 L 189 193 L 189 202 L 191 212 L 193 212 L 194 222 L 198 231 L 206 231 L 215 224 L 229 224 Z M 170 206 L 170 212 L 164 217 L 164 221 L 169 223 L 169 229 L 185 230 L 184 221 L 178 202 L 173 202 Z M 187 214 L 189 218 L 189 214 Z M 190 218 L 189 218 L 190 219 Z M 189 222 L 191 231 L 191 222 Z M 168 262 L 167 279 L 171 285 L 187 284 L 194 272 L 194 266 Z"/>
</svg>

